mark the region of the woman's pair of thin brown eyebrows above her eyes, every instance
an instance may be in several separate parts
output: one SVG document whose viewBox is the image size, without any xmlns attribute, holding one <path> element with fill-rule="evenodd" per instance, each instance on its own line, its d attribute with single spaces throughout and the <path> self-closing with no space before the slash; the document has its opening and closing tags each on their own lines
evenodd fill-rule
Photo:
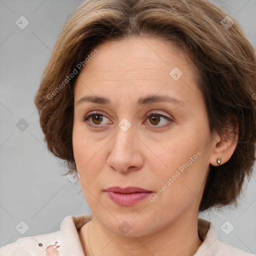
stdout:
<svg viewBox="0 0 256 256">
<path fill-rule="evenodd" d="M 81 104 L 84 102 L 92 102 L 98 104 L 111 104 L 111 101 L 108 98 L 100 96 L 83 96 L 81 97 L 76 104 Z M 175 104 L 184 105 L 185 103 L 175 97 L 170 97 L 168 95 L 148 95 L 146 97 L 139 98 L 136 102 L 137 105 L 146 105 L 155 102 L 171 102 Z"/>
</svg>

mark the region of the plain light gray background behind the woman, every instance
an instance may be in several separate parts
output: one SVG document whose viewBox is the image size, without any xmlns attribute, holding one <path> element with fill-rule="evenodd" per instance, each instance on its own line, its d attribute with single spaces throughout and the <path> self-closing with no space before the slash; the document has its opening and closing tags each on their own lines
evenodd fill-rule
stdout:
<svg viewBox="0 0 256 256">
<path fill-rule="evenodd" d="M 238 19 L 256 48 L 256 0 L 214 2 Z M 0 246 L 18 237 L 59 230 L 65 216 L 90 212 L 79 182 L 61 176 L 67 168 L 47 151 L 33 103 L 57 35 L 79 3 L 0 0 Z M 15 23 L 20 16 L 29 21 L 24 29 Z M 23 131 L 17 122 L 24 125 Z M 254 169 L 251 180 L 245 182 L 237 209 L 200 215 L 214 224 L 220 240 L 253 254 L 255 184 Z M 24 234 L 15 228 L 22 220 L 29 227 Z M 229 222 L 223 229 L 225 221 Z M 226 234 L 232 226 L 234 229 Z"/>
</svg>

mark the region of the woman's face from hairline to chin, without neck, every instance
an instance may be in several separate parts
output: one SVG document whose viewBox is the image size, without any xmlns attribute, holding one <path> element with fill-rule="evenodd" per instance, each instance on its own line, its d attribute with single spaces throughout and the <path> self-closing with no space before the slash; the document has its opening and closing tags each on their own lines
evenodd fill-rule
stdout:
<svg viewBox="0 0 256 256">
<path fill-rule="evenodd" d="M 79 182 L 93 215 L 127 236 L 197 218 L 214 141 L 191 61 L 160 38 L 96 48 L 76 80 L 72 133 Z M 113 186 L 150 192 L 105 191 Z"/>
</svg>

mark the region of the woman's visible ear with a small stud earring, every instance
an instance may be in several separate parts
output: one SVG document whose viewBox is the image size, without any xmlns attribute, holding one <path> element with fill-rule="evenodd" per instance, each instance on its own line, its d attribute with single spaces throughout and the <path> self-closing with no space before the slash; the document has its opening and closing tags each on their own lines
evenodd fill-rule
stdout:
<svg viewBox="0 0 256 256">
<path fill-rule="evenodd" d="M 226 130 L 223 135 L 217 134 L 214 137 L 213 150 L 210 155 L 210 164 L 213 166 L 219 166 L 227 162 L 232 156 L 238 140 L 238 121 L 236 116 L 230 118 L 231 127 Z M 217 163 L 217 158 L 221 158 L 220 164 Z"/>
</svg>

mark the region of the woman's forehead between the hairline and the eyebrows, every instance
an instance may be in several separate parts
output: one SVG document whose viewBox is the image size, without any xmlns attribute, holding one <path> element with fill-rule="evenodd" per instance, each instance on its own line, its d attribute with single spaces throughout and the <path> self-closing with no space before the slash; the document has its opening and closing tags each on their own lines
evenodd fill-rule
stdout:
<svg viewBox="0 0 256 256">
<path fill-rule="evenodd" d="M 197 90 L 195 69 L 189 56 L 171 41 L 154 37 L 131 37 L 106 41 L 95 48 L 98 53 L 78 75 L 75 97 L 86 92 L 91 94 L 90 90 L 109 96 L 117 96 L 118 92 L 126 97 L 155 94 L 161 90 L 172 96 L 182 92 L 181 100 L 184 101 L 191 89 Z M 171 77 L 172 70 L 178 70 L 178 75 L 182 73 L 178 80 Z"/>
</svg>

